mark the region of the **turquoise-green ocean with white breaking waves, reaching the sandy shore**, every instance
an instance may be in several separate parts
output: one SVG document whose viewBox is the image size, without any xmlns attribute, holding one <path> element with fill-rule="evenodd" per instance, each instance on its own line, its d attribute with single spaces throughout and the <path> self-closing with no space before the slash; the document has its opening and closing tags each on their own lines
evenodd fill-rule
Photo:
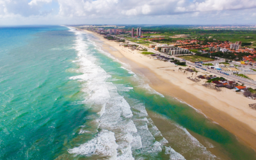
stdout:
<svg viewBox="0 0 256 160">
<path fill-rule="evenodd" d="M 0 159 L 256 159 L 65 26 L 0 28 Z"/>
</svg>

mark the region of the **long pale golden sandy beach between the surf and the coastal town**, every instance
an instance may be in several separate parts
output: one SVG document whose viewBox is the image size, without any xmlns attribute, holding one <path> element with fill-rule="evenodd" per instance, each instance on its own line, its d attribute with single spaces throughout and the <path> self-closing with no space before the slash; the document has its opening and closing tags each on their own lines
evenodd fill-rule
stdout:
<svg viewBox="0 0 256 160">
<path fill-rule="evenodd" d="M 152 56 L 141 54 L 140 51 L 131 51 L 117 42 L 104 39 L 97 33 L 89 33 L 104 42 L 102 49 L 118 60 L 131 65 L 133 72 L 147 77 L 154 90 L 193 106 L 256 149 L 256 110 L 248 106 L 248 104 L 256 103 L 255 100 L 248 99 L 242 93 L 227 88 L 221 88 L 221 92 L 206 88 L 202 86 L 205 80 L 199 83 L 189 80 L 187 77 L 191 77 L 192 74 L 179 72 L 180 66 L 175 67 L 170 62 L 154 60 Z M 197 75 L 212 75 L 204 70 L 198 71 Z M 194 73 L 193 77 L 195 76 Z"/>
</svg>

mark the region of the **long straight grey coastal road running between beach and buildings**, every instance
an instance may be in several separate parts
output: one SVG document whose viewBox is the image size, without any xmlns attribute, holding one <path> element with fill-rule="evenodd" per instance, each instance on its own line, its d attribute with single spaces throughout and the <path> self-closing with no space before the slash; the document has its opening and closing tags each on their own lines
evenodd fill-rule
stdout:
<svg viewBox="0 0 256 160">
<path fill-rule="evenodd" d="M 113 36 L 114 36 L 114 35 L 113 35 Z M 119 39 L 121 39 L 121 40 L 125 40 L 125 38 L 120 38 L 120 37 L 118 37 L 118 36 L 115 36 L 115 37 L 116 37 L 116 38 L 119 38 Z M 170 57 L 170 58 L 175 58 L 176 60 L 182 60 L 181 58 L 177 58 L 177 57 L 175 57 L 175 56 L 170 56 L 170 55 L 165 54 L 165 53 L 163 53 L 163 52 L 156 51 L 156 50 L 154 50 L 154 49 L 152 49 L 152 48 L 145 47 L 144 45 L 136 44 L 136 43 L 131 42 L 131 41 L 129 41 L 129 40 L 125 40 L 125 41 L 128 41 L 129 44 L 135 44 L 135 45 L 139 45 L 140 47 L 147 48 L 149 52 L 154 52 L 155 54 L 160 54 L 161 56 L 168 56 L 168 57 Z M 192 63 L 192 62 L 190 62 L 190 61 L 186 61 L 186 63 L 187 63 L 188 65 L 192 65 L 192 66 L 196 67 L 196 64 L 195 64 L 195 63 Z M 256 88 L 256 84 L 253 84 L 253 83 L 249 83 L 249 82 L 247 82 L 247 81 L 244 81 L 242 77 L 241 77 L 241 78 L 239 78 L 239 77 L 231 77 L 231 76 L 227 76 L 227 75 L 225 75 L 225 74 L 221 74 L 221 73 L 219 73 L 219 72 L 216 71 L 216 70 L 212 70 L 212 69 L 209 69 L 209 68 L 206 68 L 206 67 L 202 67 L 202 68 L 206 69 L 205 71 L 207 71 L 207 72 L 211 72 L 211 73 L 216 74 L 216 75 L 218 75 L 218 76 L 225 77 L 225 78 L 227 78 L 227 79 L 229 79 L 229 80 L 231 80 L 231 81 L 236 81 L 236 82 L 240 81 L 240 83 L 243 83 L 245 86 L 250 86 L 250 87 L 252 87 L 252 88 Z"/>
</svg>

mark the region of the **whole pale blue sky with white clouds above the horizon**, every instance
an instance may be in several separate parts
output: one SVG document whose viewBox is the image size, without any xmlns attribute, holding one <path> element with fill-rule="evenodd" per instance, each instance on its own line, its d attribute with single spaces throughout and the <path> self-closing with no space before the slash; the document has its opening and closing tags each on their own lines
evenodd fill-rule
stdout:
<svg viewBox="0 0 256 160">
<path fill-rule="evenodd" d="M 20 24 L 256 24 L 256 0 L 0 0 Z"/>
</svg>

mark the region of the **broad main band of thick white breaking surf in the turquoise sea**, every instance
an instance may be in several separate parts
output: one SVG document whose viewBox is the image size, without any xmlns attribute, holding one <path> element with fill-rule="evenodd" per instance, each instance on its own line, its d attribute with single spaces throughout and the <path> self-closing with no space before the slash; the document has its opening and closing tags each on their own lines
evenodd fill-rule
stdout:
<svg viewBox="0 0 256 160">
<path fill-rule="evenodd" d="M 107 82 L 111 77 L 104 69 L 96 65 L 97 59 L 92 55 L 88 44 L 84 42 L 83 34 L 77 35 L 75 49 L 81 75 L 70 77 L 83 81 L 83 92 L 86 93 L 84 104 L 98 112 L 99 129 L 93 140 L 80 147 L 68 150 L 70 154 L 83 156 L 109 156 L 111 159 L 134 159 L 132 157 L 132 134 L 137 132 L 132 118 L 132 111 L 124 97 L 117 93 L 113 83 Z M 91 54 L 90 54 L 91 52 Z M 79 132 L 83 134 L 84 131 Z M 116 143 L 116 141 L 118 143 Z"/>
</svg>

